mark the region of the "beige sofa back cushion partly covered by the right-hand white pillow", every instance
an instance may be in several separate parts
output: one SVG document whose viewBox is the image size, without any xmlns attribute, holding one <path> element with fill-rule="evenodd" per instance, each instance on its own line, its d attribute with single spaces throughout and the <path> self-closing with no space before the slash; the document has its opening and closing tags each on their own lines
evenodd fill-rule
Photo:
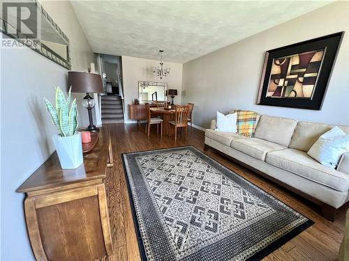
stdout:
<svg viewBox="0 0 349 261">
<path fill-rule="evenodd" d="M 315 122 L 298 122 L 290 141 L 289 148 L 308 152 L 319 137 L 328 132 L 332 127 L 327 124 Z"/>
</svg>

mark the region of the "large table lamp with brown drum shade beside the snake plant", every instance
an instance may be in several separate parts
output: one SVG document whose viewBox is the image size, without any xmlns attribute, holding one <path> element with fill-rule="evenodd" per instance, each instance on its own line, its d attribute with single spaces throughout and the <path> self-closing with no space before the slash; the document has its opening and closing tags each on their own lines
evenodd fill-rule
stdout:
<svg viewBox="0 0 349 261">
<path fill-rule="evenodd" d="M 68 72 L 68 88 L 71 86 L 72 93 L 86 93 L 82 100 L 84 106 L 89 112 L 89 126 L 87 131 L 99 132 L 99 129 L 94 125 L 92 118 L 92 109 L 94 109 L 94 98 L 89 93 L 104 93 L 102 78 L 100 74 L 91 72 Z"/>
</svg>

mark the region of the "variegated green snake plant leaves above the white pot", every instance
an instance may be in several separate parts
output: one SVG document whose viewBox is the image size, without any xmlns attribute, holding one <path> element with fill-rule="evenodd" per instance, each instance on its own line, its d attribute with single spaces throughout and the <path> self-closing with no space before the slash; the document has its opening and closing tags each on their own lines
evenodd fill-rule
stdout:
<svg viewBox="0 0 349 261">
<path fill-rule="evenodd" d="M 76 99 L 71 102 L 71 88 L 67 99 L 61 88 L 56 88 L 56 108 L 44 98 L 46 109 L 51 114 L 52 122 L 57 127 L 60 136 L 73 136 L 77 129 L 77 105 Z"/>
</svg>

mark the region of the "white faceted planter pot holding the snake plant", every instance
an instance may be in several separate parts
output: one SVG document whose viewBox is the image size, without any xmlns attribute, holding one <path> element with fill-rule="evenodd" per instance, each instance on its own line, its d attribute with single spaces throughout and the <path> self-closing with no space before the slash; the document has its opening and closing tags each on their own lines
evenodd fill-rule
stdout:
<svg viewBox="0 0 349 261">
<path fill-rule="evenodd" d="M 57 150 L 59 162 L 61 162 L 61 168 L 77 168 L 84 162 L 80 132 L 67 137 L 54 135 L 52 139 Z"/>
</svg>

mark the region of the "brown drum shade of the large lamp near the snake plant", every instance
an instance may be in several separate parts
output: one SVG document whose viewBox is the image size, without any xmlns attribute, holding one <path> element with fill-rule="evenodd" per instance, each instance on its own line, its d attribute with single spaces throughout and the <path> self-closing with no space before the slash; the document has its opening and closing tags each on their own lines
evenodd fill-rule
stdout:
<svg viewBox="0 0 349 261">
<path fill-rule="evenodd" d="M 103 83 L 100 74 L 91 72 L 68 72 L 68 88 L 73 93 L 103 93 Z"/>
</svg>

